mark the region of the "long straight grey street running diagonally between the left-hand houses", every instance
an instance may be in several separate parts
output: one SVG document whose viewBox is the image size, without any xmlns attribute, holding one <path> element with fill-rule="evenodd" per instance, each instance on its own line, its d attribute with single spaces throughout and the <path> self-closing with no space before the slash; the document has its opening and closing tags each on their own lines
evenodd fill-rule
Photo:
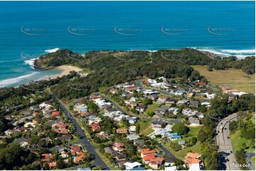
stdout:
<svg viewBox="0 0 256 171">
<path fill-rule="evenodd" d="M 102 170 L 110 170 L 110 168 L 108 167 L 108 165 L 106 165 L 106 163 L 104 163 L 104 161 L 99 157 L 98 153 L 96 153 L 96 147 L 92 146 L 91 143 L 89 142 L 87 136 L 84 134 L 84 131 L 82 129 L 82 127 L 77 123 L 77 120 L 74 119 L 74 117 L 72 117 L 72 114 L 70 114 L 66 107 L 64 105 L 62 105 L 62 103 L 60 102 L 60 100 L 58 100 L 57 98 L 55 98 L 54 96 L 52 97 L 53 99 L 55 99 L 57 101 L 57 103 L 60 105 L 61 109 L 63 112 L 65 112 L 65 117 L 70 119 L 70 121 L 74 124 L 74 127 L 77 131 L 77 133 L 79 134 L 80 138 L 79 141 L 75 142 L 75 143 L 81 143 L 85 146 L 85 148 L 87 148 L 87 151 L 89 153 L 91 153 L 92 155 L 94 155 L 94 165 L 101 165 L 102 166 Z"/>
</svg>

